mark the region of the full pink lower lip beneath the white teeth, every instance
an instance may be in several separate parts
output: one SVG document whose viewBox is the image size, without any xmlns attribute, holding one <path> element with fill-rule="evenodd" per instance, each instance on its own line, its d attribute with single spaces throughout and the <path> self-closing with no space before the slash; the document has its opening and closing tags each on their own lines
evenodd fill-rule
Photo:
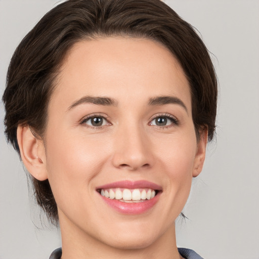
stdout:
<svg viewBox="0 0 259 259">
<path fill-rule="evenodd" d="M 151 209 L 158 201 L 160 197 L 160 192 L 158 194 L 150 199 L 150 200 L 145 200 L 143 202 L 138 202 L 138 203 L 126 203 L 122 202 L 116 199 L 109 199 L 106 198 L 105 196 L 100 197 L 108 204 L 110 207 L 114 208 L 118 212 L 122 214 L 131 214 L 131 215 L 137 215 L 137 214 L 142 214 Z"/>
</svg>

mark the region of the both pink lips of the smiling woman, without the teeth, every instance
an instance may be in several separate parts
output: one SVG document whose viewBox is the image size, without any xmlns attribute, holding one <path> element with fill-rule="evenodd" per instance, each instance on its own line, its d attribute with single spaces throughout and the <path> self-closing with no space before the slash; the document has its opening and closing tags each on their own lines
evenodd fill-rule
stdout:
<svg viewBox="0 0 259 259">
<path fill-rule="evenodd" d="M 150 189 L 159 191 L 154 198 L 150 200 L 145 200 L 139 203 L 126 203 L 116 199 L 106 198 L 100 194 L 100 197 L 107 205 L 109 205 L 110 207 L 112 207 L 113 209 L 115 209 L 116 211 L 122 214 L 130 214 L 130 215 L 142 214 L 148 211 L 149 209 L 151 209 L 159 200 L 161 190 L 162 190 L 161 186 L 144 180 L 135 181 L 135 182 L 120 181 L 120 182 L 102 185 L 97 187 L 96 189 L 100 190 L 100 189 L 110 189 L 110 188 L 127 188 L 127 189 L 150 188 Z"/>
</svg>

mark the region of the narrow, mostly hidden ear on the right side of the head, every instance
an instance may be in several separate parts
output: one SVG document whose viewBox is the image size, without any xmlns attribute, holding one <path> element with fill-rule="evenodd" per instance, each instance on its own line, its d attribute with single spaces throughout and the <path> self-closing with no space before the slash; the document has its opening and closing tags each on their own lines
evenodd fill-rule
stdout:
<svg viewBox="0 0 259 259">
<path fill-rule="evenodd" d="M 193 163 L 193 177 L 197 177 L 200 174 L 205 160 L 206 146 L 208 141 L 207 127 L 204 127 L 199 133 L 200 136 L 197 142 L 197 151 Z"/>
</svg>

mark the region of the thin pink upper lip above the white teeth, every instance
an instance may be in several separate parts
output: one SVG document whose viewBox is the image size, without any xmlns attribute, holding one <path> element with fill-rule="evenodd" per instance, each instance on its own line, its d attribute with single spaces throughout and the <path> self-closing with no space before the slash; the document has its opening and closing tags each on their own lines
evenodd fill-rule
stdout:
<svg viewBox="0 0 259 259">
<path fill-rule="evenodd" d="M 162 187 L 155 183 L 146 181 L 146 180 L 139 180 L 139 181 L 119 181 L 113 182 L 109 184 L 105 184 L 102 186 L 98 186 L 96 189 L 111 189 L 111 188 L 126 188 L 126 189 L 139 189 L 139 188 L 149 188 L 153 190 L 161 191 Z"/>
</svg>

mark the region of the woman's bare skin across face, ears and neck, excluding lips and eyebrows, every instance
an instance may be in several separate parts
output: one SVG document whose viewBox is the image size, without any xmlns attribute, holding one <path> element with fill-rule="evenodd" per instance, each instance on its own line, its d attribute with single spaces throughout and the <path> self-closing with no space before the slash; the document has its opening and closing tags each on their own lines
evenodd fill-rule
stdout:
<svg viewBox="0 0 259 259">
<path fill-rule="evenodd" d="M 85 96 L 109 97 L 115 104 L 78 104 Z M 161 96 L 178 98 L 186 108 L 149 105 Z M 104 117 L 103 125 L 91 124 L 89 115 Z M 156 124 L 155 118 L 166 116 L 173 118 L 167 125 Z M 51 184 L 63 259 L 181 258 L 175 220 L 202 169 L 207 131 L 197 141 L 188 80 L 165 47 L 122 37 L 78 42 L 50 100 L 44 141 L 28 126 L 17 133 L 28 171 Z M 96 187 L 123 180 L 160 185 L 158 202 L 139 215 L 112 209 Z"/>
</svg>

